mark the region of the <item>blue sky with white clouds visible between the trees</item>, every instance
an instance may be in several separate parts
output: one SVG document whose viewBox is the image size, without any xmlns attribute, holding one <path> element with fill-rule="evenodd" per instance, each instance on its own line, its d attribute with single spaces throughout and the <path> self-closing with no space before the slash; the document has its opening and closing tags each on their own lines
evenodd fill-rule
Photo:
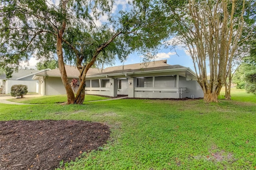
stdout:
<svg viewBox="0 0 256 170">
<path fill-rule="evenodd" d="M 48 0 L 49 4 L 59 4 L 59 0 Z M 127 10 L 129 8 L 128 0 L 115 0 L 115 4 L 113 6 L 112 13 L 117 14 L 119 10 Z M 107 17 L 100 16 L 99 20 L 95 21 L 95 24 L 97 26 L 100 26 L 102 23 L 107 21 Z M 172 41 L 172 40 L 170 40 Z M 184 47 L 181 45 L 176 46 L 176 50 L 172 49 L 171 46 L 167 48 L 160 48 L 158 50 L 158 53 L 156 54 L 155 60 L 162 60 L 167 59 L 167 63 L 170 65 L 182 65 L 184 67 L 190 67 L 194 71 L 194 65 L 192 62 L 192 58 L 186 51 Z M 29 60 L 28 65 L 26 63 L 21 63 L 23 67 L 27 67 L 28 69 L 36 69 L 36 63 L 40 61 L 36 60 L 34 57 L 31 57 Z M 142 57 L 141 54 L 136 53 L 136 51 L 130 55 L 128 55 L 128 59 L 124 61 L 124 63 L 121 63 L 118 59 L 116 59 L 115 65 L 127 65 L 127 64 L 134 64 L 134 63 L 141 63 Z"/>
</svg>

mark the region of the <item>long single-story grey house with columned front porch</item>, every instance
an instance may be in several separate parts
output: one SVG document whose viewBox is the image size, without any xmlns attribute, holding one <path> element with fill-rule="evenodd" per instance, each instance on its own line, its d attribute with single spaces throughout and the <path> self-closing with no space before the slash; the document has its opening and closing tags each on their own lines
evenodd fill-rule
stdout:
<svg viewBox="0 0 256 170">
<path fill-rule="evenodd" d="M 78 79 L 79 71 L 66 65 L 69 81 Z M 36 73 L 39 94 L 66 94 L 58 69 Z M 203 91 L 196 81 L 196 74 L 188 67 L 169 65 L 167 60 L 107 67 L 102 73 L 90 68 L 86 75 L 86 94 L 132 98 L 200 98 Z"/>
</svg>

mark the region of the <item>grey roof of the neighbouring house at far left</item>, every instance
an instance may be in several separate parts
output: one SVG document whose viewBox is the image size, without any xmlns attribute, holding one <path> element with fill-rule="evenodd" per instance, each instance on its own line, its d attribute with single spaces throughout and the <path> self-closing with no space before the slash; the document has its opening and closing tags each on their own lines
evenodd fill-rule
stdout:
<svg viewBox="0 0 256 170">
<path fill-rule="evenodd" d="M 50 69 L 44 69 L 44 70 L 19 69 L 18 72 L 12 73 L 12 78 L 8 79 L 8 78 L 6 78 L 6 74 L 2 74 L 2 75 L 0 75 L 0 79 L 19 80 L 19 79 L 28 77 L 30 75 L 34 75 L 34 74 L 41 73 L 41 72 L 48 71 L 48 70 L 50 70 Z"/>
</svg>

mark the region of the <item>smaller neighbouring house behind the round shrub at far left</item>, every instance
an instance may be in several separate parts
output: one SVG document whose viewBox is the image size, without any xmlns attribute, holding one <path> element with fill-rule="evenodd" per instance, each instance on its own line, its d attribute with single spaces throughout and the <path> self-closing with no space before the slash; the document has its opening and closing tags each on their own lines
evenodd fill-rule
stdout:
<svg viewBox="0 0 256 170">
<path fill-rule="evenodd" d="M 12 73 L 12 78 L 6 78 L 5 74 L 0 75 L 0 86 L 3 86 L 3 92 L 9 94 L 11 92 L 12 85 L 27 85 L 28 92 L 38 93 L 38 80 L 33 80 L 32 77 L 37 73 L 49 71 L 50 69 L 44 70 L 30 70 L 30 69 L 19 69 L 18 72 Z"/>
</svg>

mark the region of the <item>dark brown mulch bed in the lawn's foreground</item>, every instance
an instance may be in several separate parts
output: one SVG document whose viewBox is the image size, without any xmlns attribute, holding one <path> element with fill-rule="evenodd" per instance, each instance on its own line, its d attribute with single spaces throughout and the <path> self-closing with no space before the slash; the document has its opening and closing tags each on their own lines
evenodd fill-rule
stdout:
<svg viewBox="0 0 256 170">
<path fill-rule="evenodd" d="M 86 121 L 0 121 L 0 170 L 52 170 L 109 135 L 108 126 Z"/>
</svg>

